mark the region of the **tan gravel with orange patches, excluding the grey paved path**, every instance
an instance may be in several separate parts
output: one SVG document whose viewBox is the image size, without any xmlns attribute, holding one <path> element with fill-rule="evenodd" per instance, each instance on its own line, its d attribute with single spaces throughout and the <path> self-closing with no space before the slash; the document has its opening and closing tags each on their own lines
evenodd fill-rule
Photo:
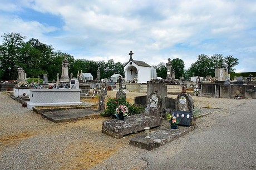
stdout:
<svg viewBox="0 0 256 170">
<path fill-rule="evenodd" d="M 115 94 L 107 92 L 108 97 Z M 131 103 L 135 96 L 146 95 L 126 94 Z M 247 102 L 247 99 L 193 99 L 194 105 L 201 109 L 200 114 L 219 110 L 216 108 L 228 112 L 229 107 Z M 0 101 L 0 169 L 143 169 L 146 166 L 141 155 L 149 151 L 129 145 L 129 139 L 137 134 L 116 139 L 101 133 L 106 117 L 53 123 L 22 107 L 6 93 L 0 92 Z M 206 118 L 204 124 L 205 121 L 210 124 L 212 120 Z"/>
</svg>

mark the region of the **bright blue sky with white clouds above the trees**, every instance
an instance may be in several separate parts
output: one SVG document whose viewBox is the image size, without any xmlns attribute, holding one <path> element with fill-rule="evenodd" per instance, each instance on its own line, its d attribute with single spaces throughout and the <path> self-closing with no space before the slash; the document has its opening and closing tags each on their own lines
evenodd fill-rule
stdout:
<svg viewBox="0 0 256 170">
<path fill-rule="evenodd" d="M 0 0 L 1 36 L 19 33 L 75 59 L 180 58 L 185 69 L 199 54 L 223 54 L 239 59 L 235 72 L 256 72 L 255 18 L 255 0 Z"/>
</svg>

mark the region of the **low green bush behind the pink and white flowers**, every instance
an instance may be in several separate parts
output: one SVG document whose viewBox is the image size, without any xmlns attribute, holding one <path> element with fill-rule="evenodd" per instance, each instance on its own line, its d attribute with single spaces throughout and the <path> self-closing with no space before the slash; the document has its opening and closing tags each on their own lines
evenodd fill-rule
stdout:
<svg viewBox="0 0 256 170">
<path fill-rule="evenodd" d="M 114 116 L 116 113 L 116 108 L 120 105 L 130 106 L 130 103 L 123 98 L 110 98 L 106 104 L 105 116 Z"/>
</svg>

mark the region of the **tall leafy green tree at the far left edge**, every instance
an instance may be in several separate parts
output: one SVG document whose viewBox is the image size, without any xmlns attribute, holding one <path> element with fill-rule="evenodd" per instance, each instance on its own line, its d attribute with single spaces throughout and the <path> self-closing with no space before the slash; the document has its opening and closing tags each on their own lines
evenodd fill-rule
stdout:
<svg viewBox="0 0 256 170">
<path fill-rule="evenodd" d="M 21 48 L 26 37 L 19 33 L 9 33 L 2 36 L 3 44 L 0 46 L 0 67 L 2 79 L 17 79 L 17 63 L 21 56 Z"/>
</svg>

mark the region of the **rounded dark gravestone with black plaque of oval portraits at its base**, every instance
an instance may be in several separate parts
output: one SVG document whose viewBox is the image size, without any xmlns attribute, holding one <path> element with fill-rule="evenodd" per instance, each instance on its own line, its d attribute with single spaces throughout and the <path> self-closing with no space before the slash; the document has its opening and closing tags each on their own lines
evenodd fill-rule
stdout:
<svg viewBox="0 0 256 170">
<path fill-rule="evenodd" d="M 194 125 L 194 101 L 190 94 L 186 93 L 185 86 L 182 87 L 181 93 L 177 96 L 175 102 L 176 111 L 171 111 L 178 120 L 180 125 Z"/>
</svg>

